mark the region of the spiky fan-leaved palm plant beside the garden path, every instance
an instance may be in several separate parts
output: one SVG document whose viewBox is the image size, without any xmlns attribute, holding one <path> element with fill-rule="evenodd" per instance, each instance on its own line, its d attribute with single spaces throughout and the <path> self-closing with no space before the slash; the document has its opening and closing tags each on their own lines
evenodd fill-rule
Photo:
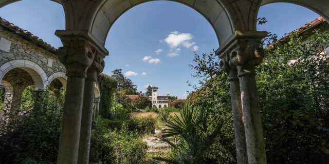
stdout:
<svg viewBox="0 0 329 164">
<path fill-rule="evenodd" d="M 166 118 L 166 129 L 159 139 L 167 142 L 177 152 L 175 156 L 155 157 L 154 159 L 173 164 L 196 164 L 200 163 L 207 149 L 220 133 L 223 124 L 217 124 L 210 135 L 205 135 L 203 128 L 202 112 L 205 107 L 184 105 L 179 114 Z M 175 138 L 172 142 L 169 138 Z"/>
</svg>

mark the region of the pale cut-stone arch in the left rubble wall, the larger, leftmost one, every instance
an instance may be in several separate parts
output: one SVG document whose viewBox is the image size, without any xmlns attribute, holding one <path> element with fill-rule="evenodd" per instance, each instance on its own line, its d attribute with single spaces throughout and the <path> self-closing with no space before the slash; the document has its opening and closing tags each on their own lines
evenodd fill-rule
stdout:
<svg viewBox="0 0 329 164">
<path fill-rule="evenodd" d="M 33 79 L 36 90 L 44 90 L 47 85 L 47 75 L 45 71 L 38 65 L 29 60 L 12 60 L 0 67 L 0 85 L 6 73 L 14 68 L 25 70 Z"/>
</svg>

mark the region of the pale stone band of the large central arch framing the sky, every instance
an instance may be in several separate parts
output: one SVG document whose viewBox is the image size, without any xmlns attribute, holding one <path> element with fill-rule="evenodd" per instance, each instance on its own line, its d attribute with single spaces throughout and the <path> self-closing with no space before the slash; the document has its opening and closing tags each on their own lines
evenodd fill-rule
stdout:
<svg viewBox="0 0 329 164">
<path fill-rule="evenodd" d="M 111 0 L 104 1 L 96 12 L 90 31 L 99 44 L 104 45 L 107 33 L 115 21 L 127 10 L 146 2 L 155 0 Z M 168 1 L 168 0 L 167 0 Z M 202 14 L 212 25 L 220 45 L 224 44 L 234 33 L 234 24 L 231 14 L 224 7 L 223 0 L 169 0 L 191 7 Z"/>
</svg>

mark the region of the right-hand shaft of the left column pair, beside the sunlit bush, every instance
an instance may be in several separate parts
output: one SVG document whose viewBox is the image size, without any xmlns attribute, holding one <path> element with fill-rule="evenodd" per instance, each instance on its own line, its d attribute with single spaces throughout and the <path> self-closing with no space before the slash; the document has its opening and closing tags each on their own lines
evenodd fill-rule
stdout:
<svg viewBox="0 0 329 164">
<path fill-rule="evenodd" d="M 87 78 L 85 80 L 83 108 L 82 108 L 82 122 L 80 131 L 80 143 L 78 163 L 89 163 L 89 149 L 90 149 L 90 133 L 92 130 L 93 121 L 93 106 L 95 96 L 95 84 L 97 76 L 104 69 L 103 56 L 97 54 L 93 65 L 88 69 Z"/>
</svg>

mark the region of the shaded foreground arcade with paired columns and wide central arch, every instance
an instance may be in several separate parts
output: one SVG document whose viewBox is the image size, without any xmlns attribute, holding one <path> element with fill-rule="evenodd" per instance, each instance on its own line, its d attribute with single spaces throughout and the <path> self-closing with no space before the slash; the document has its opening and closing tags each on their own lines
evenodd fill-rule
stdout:
<svg viewBox="0 0 329 164">
<path fill-rule="evenodd" d="M 0 7 L 17 0 L 0 0 Z M 65 30 L 57 30 L 63 47 L 55 53 L 66 68 L 66 97 L 58 164 L 88 163 L 92 108 L 97 75 L 108 55 L 107 33 L 125 11 L 150 0 L 56 0 L 63 5 Z M 262 63 L 257 15 L 262 5 L 287 2 L 329 20 L 327 0 L 175 0 L 204 15 L 213 26 L 223 69 L 229 74 L 237 163 L 267 163 L 255 67 Z M 29 70 L 26 69 L 28 72 Z M 37 72 L 37 71 L 36 71 Z M 39 73 L 40 74 L 40 73 Z M 42 74 L 41 74 L 42 75 Z M 32 76 L 33 77 L 33 76 Z M 34 80 L 34 79 L 33 79 Z M 44 86 L 46 77 L 35 79 Z M 6 84 L 6 82 L 4 82 Z M 10 86 L 8 86 L 10 88 Z M 83 121 L 82 121 L 83 120 Z"/>
</svg>

